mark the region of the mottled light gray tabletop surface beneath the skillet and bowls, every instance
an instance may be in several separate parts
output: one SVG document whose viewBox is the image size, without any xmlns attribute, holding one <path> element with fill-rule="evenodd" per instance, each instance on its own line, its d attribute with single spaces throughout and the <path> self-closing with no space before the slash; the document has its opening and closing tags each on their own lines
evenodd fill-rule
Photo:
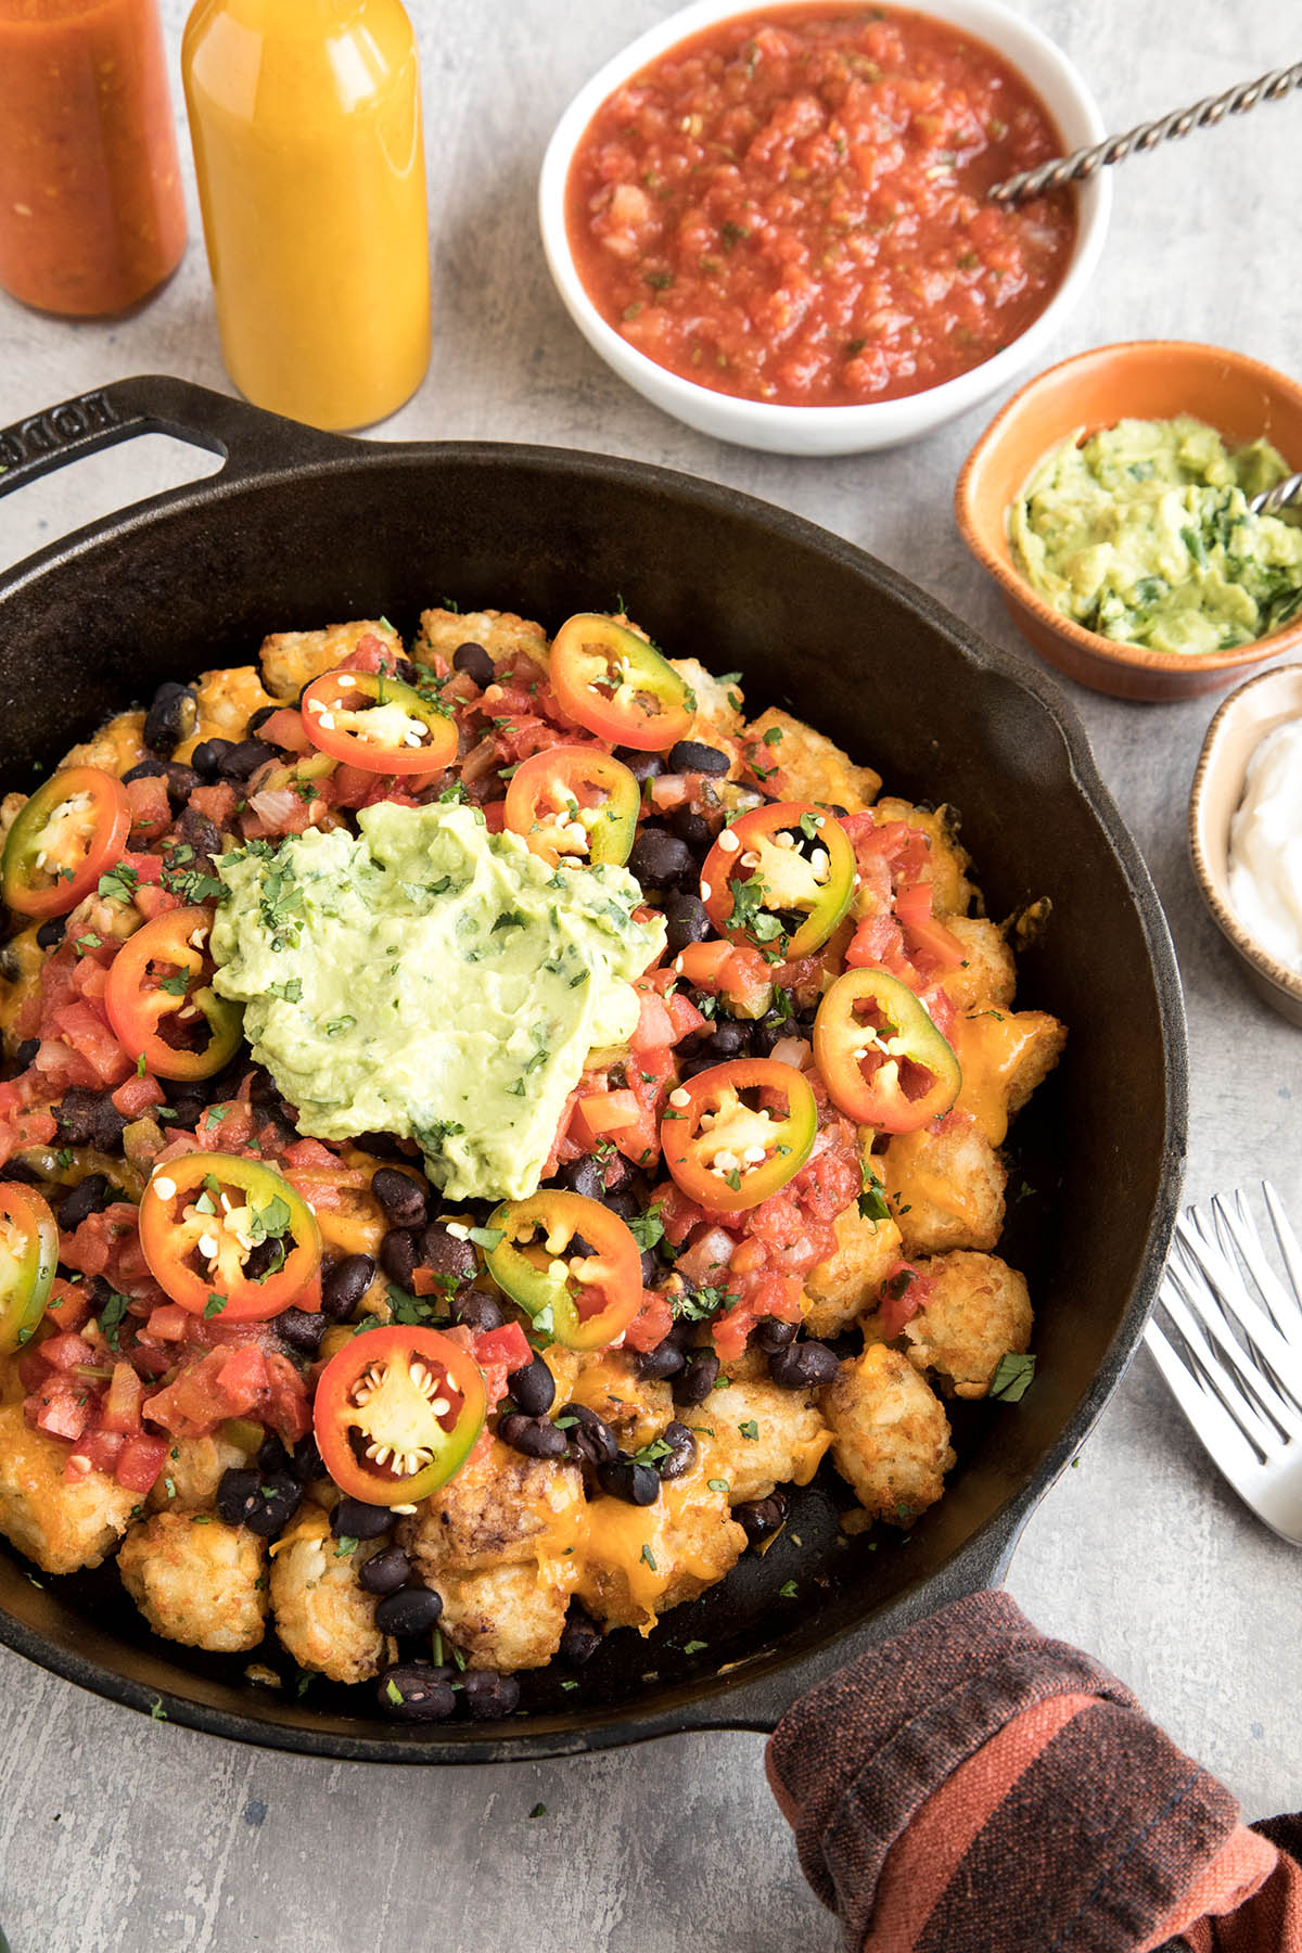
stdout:
<svg viewBox="0 0 1302 1953">
<path fill-rule="evenodd" d="M 180 45 L 183 0 L 164 0 Z M 392 436 L 539 439 L 670 463 L 822 521 L 1013 639 L 951 514 L 986 412 L 882 457 L 800 463 L 714 445 L 627 393 L 552 295 L 533 225 L 550 123 L 664 0 L 443 0 L 420 16 L 435 352 Z M 1113 127 L 1296 57 L 1286 8 L 1019 0 Z M 1093 291 L 1056 355 L 1173 336 L 1294 365 L 1302 100 L 1119 172 Z M 201 244 L 137 318 L 61 324 L 0 299 L 0 424 L 115 375 L 226 387 Z M 16 561 L 209 467 L 139 441 L 0 504 Z M 1189 1195 L 1269 1172 L 1302 1219 L 1302 1033 L 1241 986 L 1185 861 L 1185 797 L 1214 701 L 1074 691 L 1161 891 L 1191 1016 Z M 1099 1213 L 1107 1226 L 1107 1213 Z M 1302 1560 L 1222 1490 L 1140 1355 L 1033 1517 L 1011 1590 L 1216 1769 L 1249 1814 L 1296 1808 Z M 0 1924 L 14 1953 L 791 1953 L 835 1930 L 800 1883 L 752 1736 L 539 1767 L 398 1771 L 226 1746 L 0 1658 Z M 535 1805 L 547 1812 L 531 1818 Z"/>
</svg>

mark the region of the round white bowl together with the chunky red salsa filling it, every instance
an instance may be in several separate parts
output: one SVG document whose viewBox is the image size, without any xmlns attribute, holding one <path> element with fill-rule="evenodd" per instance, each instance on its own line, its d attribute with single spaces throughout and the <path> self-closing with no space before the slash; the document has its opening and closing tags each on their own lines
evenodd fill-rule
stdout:
<svg viewBox="0 0 1302 1953">
<path fill-rule="evenodd" d="M 539 182 L 584 338 L 687 426 L 845 455 L 929 434 L 1040 353 L 1103 250 L 1107 172 L 986 189 L 1105 135 L 999 0 L 697 0 L 578 92 Z"/>
</svg>

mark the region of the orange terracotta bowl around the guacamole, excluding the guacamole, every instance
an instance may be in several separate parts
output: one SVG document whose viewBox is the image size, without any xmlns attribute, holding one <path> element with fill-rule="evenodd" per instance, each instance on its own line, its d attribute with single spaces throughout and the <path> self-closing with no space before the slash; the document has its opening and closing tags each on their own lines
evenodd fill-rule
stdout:
<svg viewBox="0 0 1302 1953">
<path fill-rule="evenodd" d="M 1241 672 L 1302 644 L 1302 619 L 1238 650 L 1175 656 L 1115 644 L 1062 617 L 1031 590 L 1013 562 L 1007 512 L 1038 463 L 1078 428 L 1193 414 L 1230 443 L 1265 436 L 1290 469 L 1302 467 L 1302 387 L 1273 367 L 1220 346 L 1130 340 L 1064 359 L 1015 393 L 968 455 L 955 510 L 962 539 L 990 570 L 1017 629 L 1079 686 L 1117 699 L 1187 699 L 1218 691 Z"/>
</svg>

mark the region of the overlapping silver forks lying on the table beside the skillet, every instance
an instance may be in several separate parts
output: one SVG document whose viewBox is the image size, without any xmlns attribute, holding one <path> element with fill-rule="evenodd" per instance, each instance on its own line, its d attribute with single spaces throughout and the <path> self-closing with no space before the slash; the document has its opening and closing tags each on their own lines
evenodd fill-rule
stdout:
<svg viewBox="0 0 1302 1953">
<path fill-rule="evenodd" d="M 1144 1342 L 1212 1463 L 1259 1519 L 1302 1547 L 1302 1246 L 1261 1195 L 1284 1279 L 1241 1189 L 1189 1207 Z"/>
</svg>

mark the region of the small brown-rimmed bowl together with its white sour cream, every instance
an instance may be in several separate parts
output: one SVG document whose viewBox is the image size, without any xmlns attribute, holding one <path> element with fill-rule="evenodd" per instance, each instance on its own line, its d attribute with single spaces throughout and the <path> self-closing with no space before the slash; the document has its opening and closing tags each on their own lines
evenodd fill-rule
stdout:
<svg viewBox="0 0 1302 1953">
<path fill-rule="evenodd" d="M 1302 1025 L 1302 664 L 1249 678 L 1212 719 L 1189 853 L 1243 975 Z"/>
</svg>

